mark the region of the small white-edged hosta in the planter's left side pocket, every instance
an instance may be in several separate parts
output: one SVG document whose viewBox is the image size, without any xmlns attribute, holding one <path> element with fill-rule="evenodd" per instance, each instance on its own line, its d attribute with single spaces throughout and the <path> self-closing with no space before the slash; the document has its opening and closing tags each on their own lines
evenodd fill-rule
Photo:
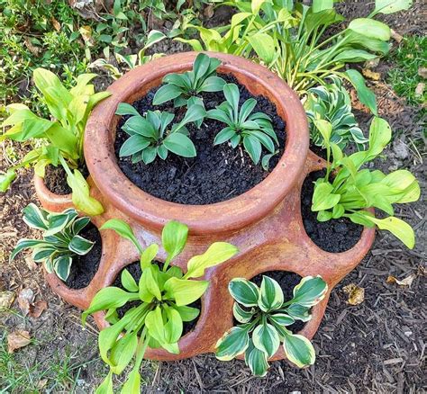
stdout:
<svg viewBox="0 0 427 394">
<path fill-rule="evenodd" d="M 43 237 L 20 239 L 10 259 L 13 260 L 23 249 L 32 249 L 33 260 L 43 263 L 48 273 L 56 273 L 62 281 L 68 278 L 73 257 L 86 255 L 94 246 L 94 242 L 78 235 L 90 219 L 79 218 L 72 208 L 49 213 L 31 203 L 23 209 L 23 221 L 31 228 L 43 231 Z"/>
</svg>

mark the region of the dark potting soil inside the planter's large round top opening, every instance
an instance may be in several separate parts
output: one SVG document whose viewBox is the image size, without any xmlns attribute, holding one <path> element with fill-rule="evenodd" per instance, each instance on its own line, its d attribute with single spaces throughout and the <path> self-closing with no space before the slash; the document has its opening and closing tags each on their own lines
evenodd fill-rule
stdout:
<svg viewBox="0 0 427 394">
<path fill-rule="evenodd" d="M 213 146 L 215 135 L 223 130 L 225 125 L 220 121 L 208 119 L 204 120 L 200 130 L 197 130 L 193 123 L 187 127 L 195 143 L 197 157 L 178 157 L 169 152 L 166 160 L 157 157 L 148 166 L 142 161 L 132 164 L 131 157 L 119 157 L 119 150 L 123 142 L 129 138 L 128 134 L 122 130 L 124 121 L 128 119 L 127 116 L 123 116 L 117 126 L 114 149 L 120 169 L 133 184 L 162 200 L 181 204 L 211 204 L 229 200 L 247 192 L 259 184 L 277 166 L 285 148 L 286 132 L 285 122 L 277 115 L 276 105 L 266 97 L 250 94 L 246 87 L 240 85 L 233 76 L 222 75 L 222 77 L 228 83 L 239 86 L 240 105 L 253 97 L 257 100 L 254 112 L 264 112 L 272 120 L 280 145 L 278 154 L 270 160 L 268 171 L 265 171 L 260 163 L 255 166 L 242 147 L 233 149 L 227 143 Z M 147 95 L 132 105 L 141 115 L 148 110 L 168 111 L 176 113 L 174 122 L 180 121 L 185 115 L 185 108 L 174 109 L 172 102 L 151 105 L 158 89 L 159 87 L 150 90 Z M 213 109 L 225 101 L 223 92 L 207 93 L 202 96 L 206 110 Z M 268 152 L 263 149 L 262 156 L 266 153 Z"/>
</svg>

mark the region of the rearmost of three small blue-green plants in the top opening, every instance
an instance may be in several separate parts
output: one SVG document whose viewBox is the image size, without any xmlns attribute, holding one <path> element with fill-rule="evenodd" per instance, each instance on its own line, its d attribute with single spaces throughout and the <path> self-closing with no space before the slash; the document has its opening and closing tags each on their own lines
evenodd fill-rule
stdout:
<svg viewBox="0 0 427 394">
<path fill-rule="evenodd" d="M 191 71 L 183 74 L 168 74 L 163 78 L 163 85 L 153 98 L 153 105 L 174 100 L 174 106 L 187 104 L 188 99 L 203 92 L 219 92 L 223 90 L 225 81 L 216 76 L 216 68 L 221 64 L 217 58 L 209 58 L 200 53 L 195 58 Z"/>
</svg>

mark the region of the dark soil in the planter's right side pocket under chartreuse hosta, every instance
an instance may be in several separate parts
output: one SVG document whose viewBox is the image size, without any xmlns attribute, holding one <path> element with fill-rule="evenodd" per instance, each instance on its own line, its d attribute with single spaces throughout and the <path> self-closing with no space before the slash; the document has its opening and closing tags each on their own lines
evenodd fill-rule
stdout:
<svg viewBox="0 0 427 394">
<path fill-rule="evenodd" d="M 317 212 L 313 212 L 311 209 L 313 183 L 324 175 L 326 175 L 326 170 L 315 171 L 304 180 L 301 190 L 301 214 L 305 232 L 314 244 L 326 252 L 345 252 L 358 243 L 363 227 L 347 218 L 323 222 L 317 220 Z"/>
</svg>

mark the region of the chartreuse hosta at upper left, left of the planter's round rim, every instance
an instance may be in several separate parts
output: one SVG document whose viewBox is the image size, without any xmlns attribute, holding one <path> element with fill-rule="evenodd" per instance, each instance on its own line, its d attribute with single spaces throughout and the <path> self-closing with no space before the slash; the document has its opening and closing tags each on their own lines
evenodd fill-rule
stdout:
<svg viewBox="0 0 427 394">
<path fill-rule="evenodd" d="M 49 70 L 34 70 L 34 84 L 40 90 L 43 101 L 50 111 L 51 120 L 43 119 L 31 112 L 23 104 L 6 106 L 10 116 L 2 127 L 12 126 L 0 136 L 14 141 L 35 142 L 41 140 L 39 148 L 33 148 L 23 161 L 0 177 L 0 191 L 5 192 L 14 180 L 17 168 L 32 165 L 37 175 L 44 177 L 47 165 L 63 166 L 67 172 L 67 181 L 73 191 L 72 199 L 78 210 L 89 215 L 98 215 L 103 207 L 89 195 L 89 186 L 77 168 L 83 165 L 83 138 L 86 121 L 96 103 L 104 100 L 110 93 L 95 94 L 94 85 L 89 82 L 95 74 L 83 74 L 77 77 L 77 84 L 70 90 L 61 84 L 58 76 Z M 74 174 L 71 171 L 74 169 Z"/>
</svg>

